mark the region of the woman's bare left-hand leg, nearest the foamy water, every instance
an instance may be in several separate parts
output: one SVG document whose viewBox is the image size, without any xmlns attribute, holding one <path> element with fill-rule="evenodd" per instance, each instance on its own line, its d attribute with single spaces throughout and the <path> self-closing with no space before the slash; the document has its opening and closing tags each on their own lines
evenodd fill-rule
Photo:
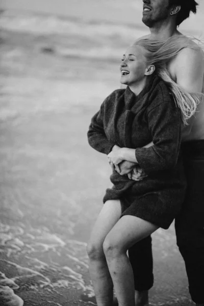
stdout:
<svg viewBox="0 0 204 306">
<path fill-rule="evenodd" d="M 113 282 L 104 254 L 103 243 L 120 216 L 120 201 L 107 201 L 96 220 L 87 246 L 89 272 L 98 306 L 111 306 L 113 302 Z"/>
</svg>

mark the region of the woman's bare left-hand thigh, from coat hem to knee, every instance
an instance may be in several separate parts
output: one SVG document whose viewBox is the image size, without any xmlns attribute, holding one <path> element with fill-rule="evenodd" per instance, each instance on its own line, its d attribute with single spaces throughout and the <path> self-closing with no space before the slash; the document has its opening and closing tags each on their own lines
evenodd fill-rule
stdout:
<svg viewBox="0 0 204 306">
<path fill-rule="evenodd" d="M 101 209 L 91 232 L 89 244 L 103 249 L 103 242 L 121 216 L 119 200 L 106 201 Z"/>
</svg>

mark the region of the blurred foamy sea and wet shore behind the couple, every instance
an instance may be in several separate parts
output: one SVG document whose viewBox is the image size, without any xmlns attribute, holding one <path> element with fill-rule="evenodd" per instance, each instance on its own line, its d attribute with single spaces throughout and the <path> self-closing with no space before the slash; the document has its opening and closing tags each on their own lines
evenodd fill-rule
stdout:
<svg viewBox="0 0 204 306">
<path fill-rule="evenodd" d="M 86 132 L 136 32 L 13 11 L 0 22 L 0 305 L 91 305 L 86 242 L 111 170 Z M 193 305 L 173 224 L 153 240 L 150 305 Z"/>
</svg>

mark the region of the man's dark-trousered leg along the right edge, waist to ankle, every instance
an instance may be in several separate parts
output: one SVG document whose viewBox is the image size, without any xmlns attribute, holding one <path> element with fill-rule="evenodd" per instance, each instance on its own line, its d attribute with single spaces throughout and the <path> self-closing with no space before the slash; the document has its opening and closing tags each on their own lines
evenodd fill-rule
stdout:
<svg viewBox="0 0 204 306">
<path fill-rule="evenodd" d="M 204 140 L 182 145 L 187 193 L 175 219 L 177 245 L 184 258 L 189 292 L 197 306 L 204 306 Z"/>
</svg>

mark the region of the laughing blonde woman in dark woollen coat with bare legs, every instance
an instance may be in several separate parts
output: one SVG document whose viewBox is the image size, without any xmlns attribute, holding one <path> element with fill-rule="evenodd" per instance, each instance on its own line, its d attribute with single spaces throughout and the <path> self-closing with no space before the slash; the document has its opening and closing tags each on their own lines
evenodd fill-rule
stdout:
<svg viewBox="0 0 204 306">
<path fill-rule="evenodd" d="M 89 126 L 89 144 L 107 154 L 113 168 L 113 187 L 106 191 L 87 248 L 98 306 L 112 304 L 113 286 L 119 306 L 135 305 L 126 251 L 159 227 L 168 228 L 185 196 L 181 114 L 184 122 L 192 116 L 198 97 L 169 80 L 164 62 L 179 52 L 178 41 L 161 46 L 140 39 L 127 49 L 121 83 L 128 87 L 110 94 Z M 143 147 L 151 141 L 153 146 Z M 136 182 L 120 175 L 115 167 L 123 161 L 138 163 L 148 176 Z"/>
</svg>

